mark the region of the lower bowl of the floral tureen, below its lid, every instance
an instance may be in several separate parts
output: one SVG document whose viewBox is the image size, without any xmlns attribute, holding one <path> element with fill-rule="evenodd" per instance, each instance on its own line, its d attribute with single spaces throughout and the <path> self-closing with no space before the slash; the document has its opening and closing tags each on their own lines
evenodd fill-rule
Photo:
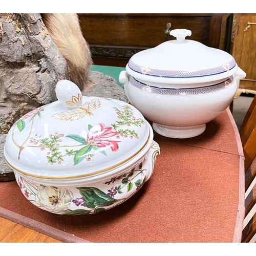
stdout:
<svg viewBox="0 0 256 256">
<path fill-rule="evenodd" d="M 59 215 L 96 214 L 137 193 L 151 177 L 159 152 L 159 145 L 153 141 L 146 154 L 95 179 L 39 179 L 16 170 L 14 174 L 25 198 L 42 210 Z"/>
</svg>

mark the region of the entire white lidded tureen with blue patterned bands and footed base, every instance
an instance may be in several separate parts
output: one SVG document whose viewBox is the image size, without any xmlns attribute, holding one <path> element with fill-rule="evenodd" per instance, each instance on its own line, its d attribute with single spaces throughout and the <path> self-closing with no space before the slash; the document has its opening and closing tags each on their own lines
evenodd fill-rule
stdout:
<svg viewBox="0 0 256 256">
<path fill-rule="evenodd" d="M 119 81 L 157 133 L 195 137 L 231 103 L 245 73 L 227 52 L 185 39 L 191 31 L 170 34 L 177 39 L 132 56 Z"/>
</svg>

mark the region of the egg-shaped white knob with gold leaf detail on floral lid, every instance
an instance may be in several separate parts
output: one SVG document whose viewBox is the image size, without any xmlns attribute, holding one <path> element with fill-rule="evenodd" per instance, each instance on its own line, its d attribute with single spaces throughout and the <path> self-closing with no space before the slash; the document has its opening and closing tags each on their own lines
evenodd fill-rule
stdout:
<svg viewBox="0 0 256 256">
<path fill-rule="evenodd" d="M 69 109 L 82 104 L 82 93 L 77 85 L 69 80 L 59 80 L 55 88 L 57 99 Z"/>
</svg>

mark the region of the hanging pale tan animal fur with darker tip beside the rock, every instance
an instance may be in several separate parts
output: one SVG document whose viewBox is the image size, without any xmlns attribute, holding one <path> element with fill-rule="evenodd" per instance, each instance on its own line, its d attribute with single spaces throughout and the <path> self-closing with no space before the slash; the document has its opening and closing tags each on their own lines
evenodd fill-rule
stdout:
<svg viewBox="0 0 256 256">
<path fill-rule="evenodd" d="M 83 91 L 93 62 L 89 45 L 81 32 L 78 15 L 76 13 L 41 13 L 41 16 L 59 51 L 67 61 L 70 80 Z"/>
</svg>

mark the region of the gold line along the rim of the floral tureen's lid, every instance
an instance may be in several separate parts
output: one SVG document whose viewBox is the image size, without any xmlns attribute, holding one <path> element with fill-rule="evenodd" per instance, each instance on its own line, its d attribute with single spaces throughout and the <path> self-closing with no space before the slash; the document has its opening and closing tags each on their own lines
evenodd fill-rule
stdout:
<svg viewBox="0 0 256 256">
<path fill-rule="evenodd" d="M 138 150 L 136 153 L 134 153 L 131 157 L 129 157 L 129 158 L 127 158 L 127 159 L 121 161 L 121 162 L 118 163 L 118 164 L 112 165 L 112 166 L 110 166 L 110 167 L 108 167 L 108 168 L 105 168 L 105 169 L 102 169 L 102 170 L 98 170 L 97 172 L 90 173 L 90 174 L 82 174 L 82 175 L 68 176 L 68 177 L 45 177 L 45 176 L 37 176 L 37 175 L 29 174 L 29 173 L 23 172 L 22 170 L 17 169 L 16 167 L 14 167 L 12 164 L 10 164 L 10 163 L 7 161 L 5 155 L 4 155 L 4 159 L 5 159 L 6 163 L 7 163 L 12 169 L 14 169 L 14 170 L 16 170 L 17 172 L 22 173 L 22 174 L 24 174 L 24 175 L 26 175 L 26 176 L 31 176 L 31 177 L 40 178 L 40 179 L 51 179 L 51 180 L 57 180 L 57 179 L 58 179 L 58 180 L 64 180 L 64 179 L 81 178 L 81 177 L 92 176 L 92 175 L 95 175 L 95 174 L 99 174 L 99 173 L 105 172 L 106 170 L 110 170 L 110 169 L 112 169 L 112 168 L 117 167 L 118 165 L 121 165 L 121 164 L 123 164 L 123 163 L 125 163 L 125 162 L 131 160 L 133 157 L 135 157 L 136 155 L 138 155 L 138 153 L 140 153 L 140 152 L 143 150 L 143 148 L 145 148 L 146 144 L 148 143 L 148 140 L 150 139 L 150 135 L 151 135 L 151 133 L 148 135 L 146 142 L 145 142 L 144 145 L 140 148 L 140 150 Z"/>
</svg>

